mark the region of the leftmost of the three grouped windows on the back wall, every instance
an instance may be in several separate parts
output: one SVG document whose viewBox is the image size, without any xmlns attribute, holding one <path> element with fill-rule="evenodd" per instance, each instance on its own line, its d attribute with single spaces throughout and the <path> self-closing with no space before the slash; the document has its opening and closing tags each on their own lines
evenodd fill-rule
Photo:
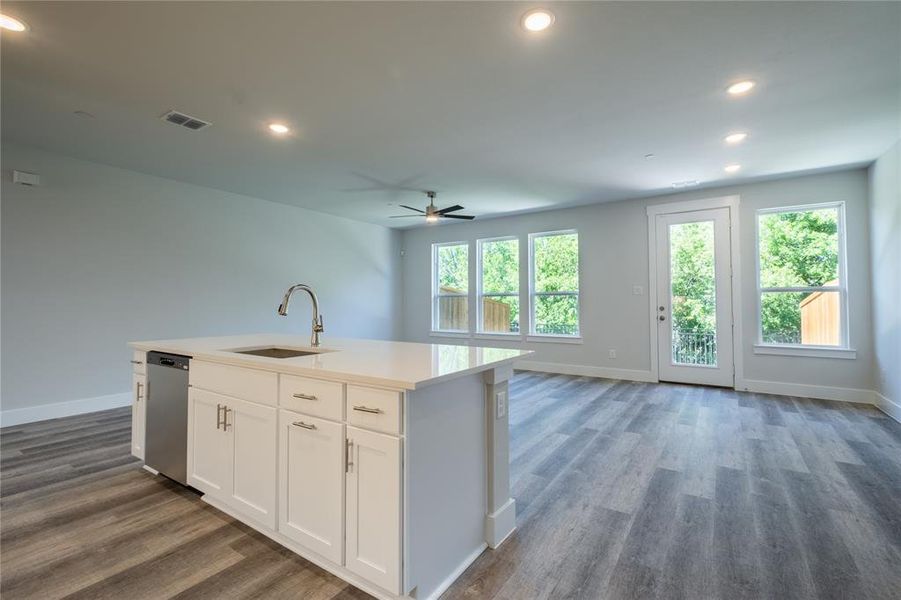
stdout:
<svg viewBox="0 0 901 600">
<path fill-rule="evenodd" d="M 432 244 L 432 329 L 469 331 L 469 244 Z"/>
</svg>

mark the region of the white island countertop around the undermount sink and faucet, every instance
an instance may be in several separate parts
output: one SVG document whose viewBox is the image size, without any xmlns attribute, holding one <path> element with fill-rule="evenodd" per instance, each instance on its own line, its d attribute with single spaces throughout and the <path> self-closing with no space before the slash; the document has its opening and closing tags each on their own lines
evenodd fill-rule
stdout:
<svg viewBox="0 0 901 600">
<path fill-rule="evenodd" d="M 309 343 L 306 335 L 259 333 L 129 342 L 128 345 L 137 350 L 184 354 L 197 360 L 405 390 L 485 371 L 532 353 L 508 348 L 328 337 L 323 337 L 321 348 L 310 348 Z M 233 352 L 268 347 L 316 350 L 320 354 L 267 358 Z"/>
</svg>

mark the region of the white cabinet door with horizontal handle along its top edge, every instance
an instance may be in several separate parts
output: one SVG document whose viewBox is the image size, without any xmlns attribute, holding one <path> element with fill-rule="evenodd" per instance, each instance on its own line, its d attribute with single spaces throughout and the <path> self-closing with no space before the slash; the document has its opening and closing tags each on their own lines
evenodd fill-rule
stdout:
<svg viewBox="0 0 901 600">
<path fill-rule="evenodd" d="M 344 562 L 344 425 L 279 411 L 279 531 Z"/>
</svg>

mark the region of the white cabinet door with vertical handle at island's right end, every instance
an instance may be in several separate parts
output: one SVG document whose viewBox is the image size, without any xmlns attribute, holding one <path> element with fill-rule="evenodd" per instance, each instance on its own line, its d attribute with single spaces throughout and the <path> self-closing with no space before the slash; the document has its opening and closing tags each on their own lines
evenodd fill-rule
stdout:
<svg viewBox="0 0 901 600">
<path fill-rule="evenodd" d="M 347 427 L 351 464 L 346 474 L 345 566 L 376 585 L 400 593 L 400 440 Z"/>
</svg>

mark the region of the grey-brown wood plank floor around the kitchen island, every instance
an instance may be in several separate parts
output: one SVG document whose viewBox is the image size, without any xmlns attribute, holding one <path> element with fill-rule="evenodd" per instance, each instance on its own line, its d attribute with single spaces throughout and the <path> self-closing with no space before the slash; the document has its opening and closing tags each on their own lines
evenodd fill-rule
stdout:
<svg viewBox="0 0 901 600">
<path fill-rule="evenodd" d="M 518 529 L 445 599 L 901 598 L 901 425 L 874 408 L 518 374 Z M 117 409 L 0 432 L 0 593 L 368 595 L 140 469 Z"/>
</svg>

